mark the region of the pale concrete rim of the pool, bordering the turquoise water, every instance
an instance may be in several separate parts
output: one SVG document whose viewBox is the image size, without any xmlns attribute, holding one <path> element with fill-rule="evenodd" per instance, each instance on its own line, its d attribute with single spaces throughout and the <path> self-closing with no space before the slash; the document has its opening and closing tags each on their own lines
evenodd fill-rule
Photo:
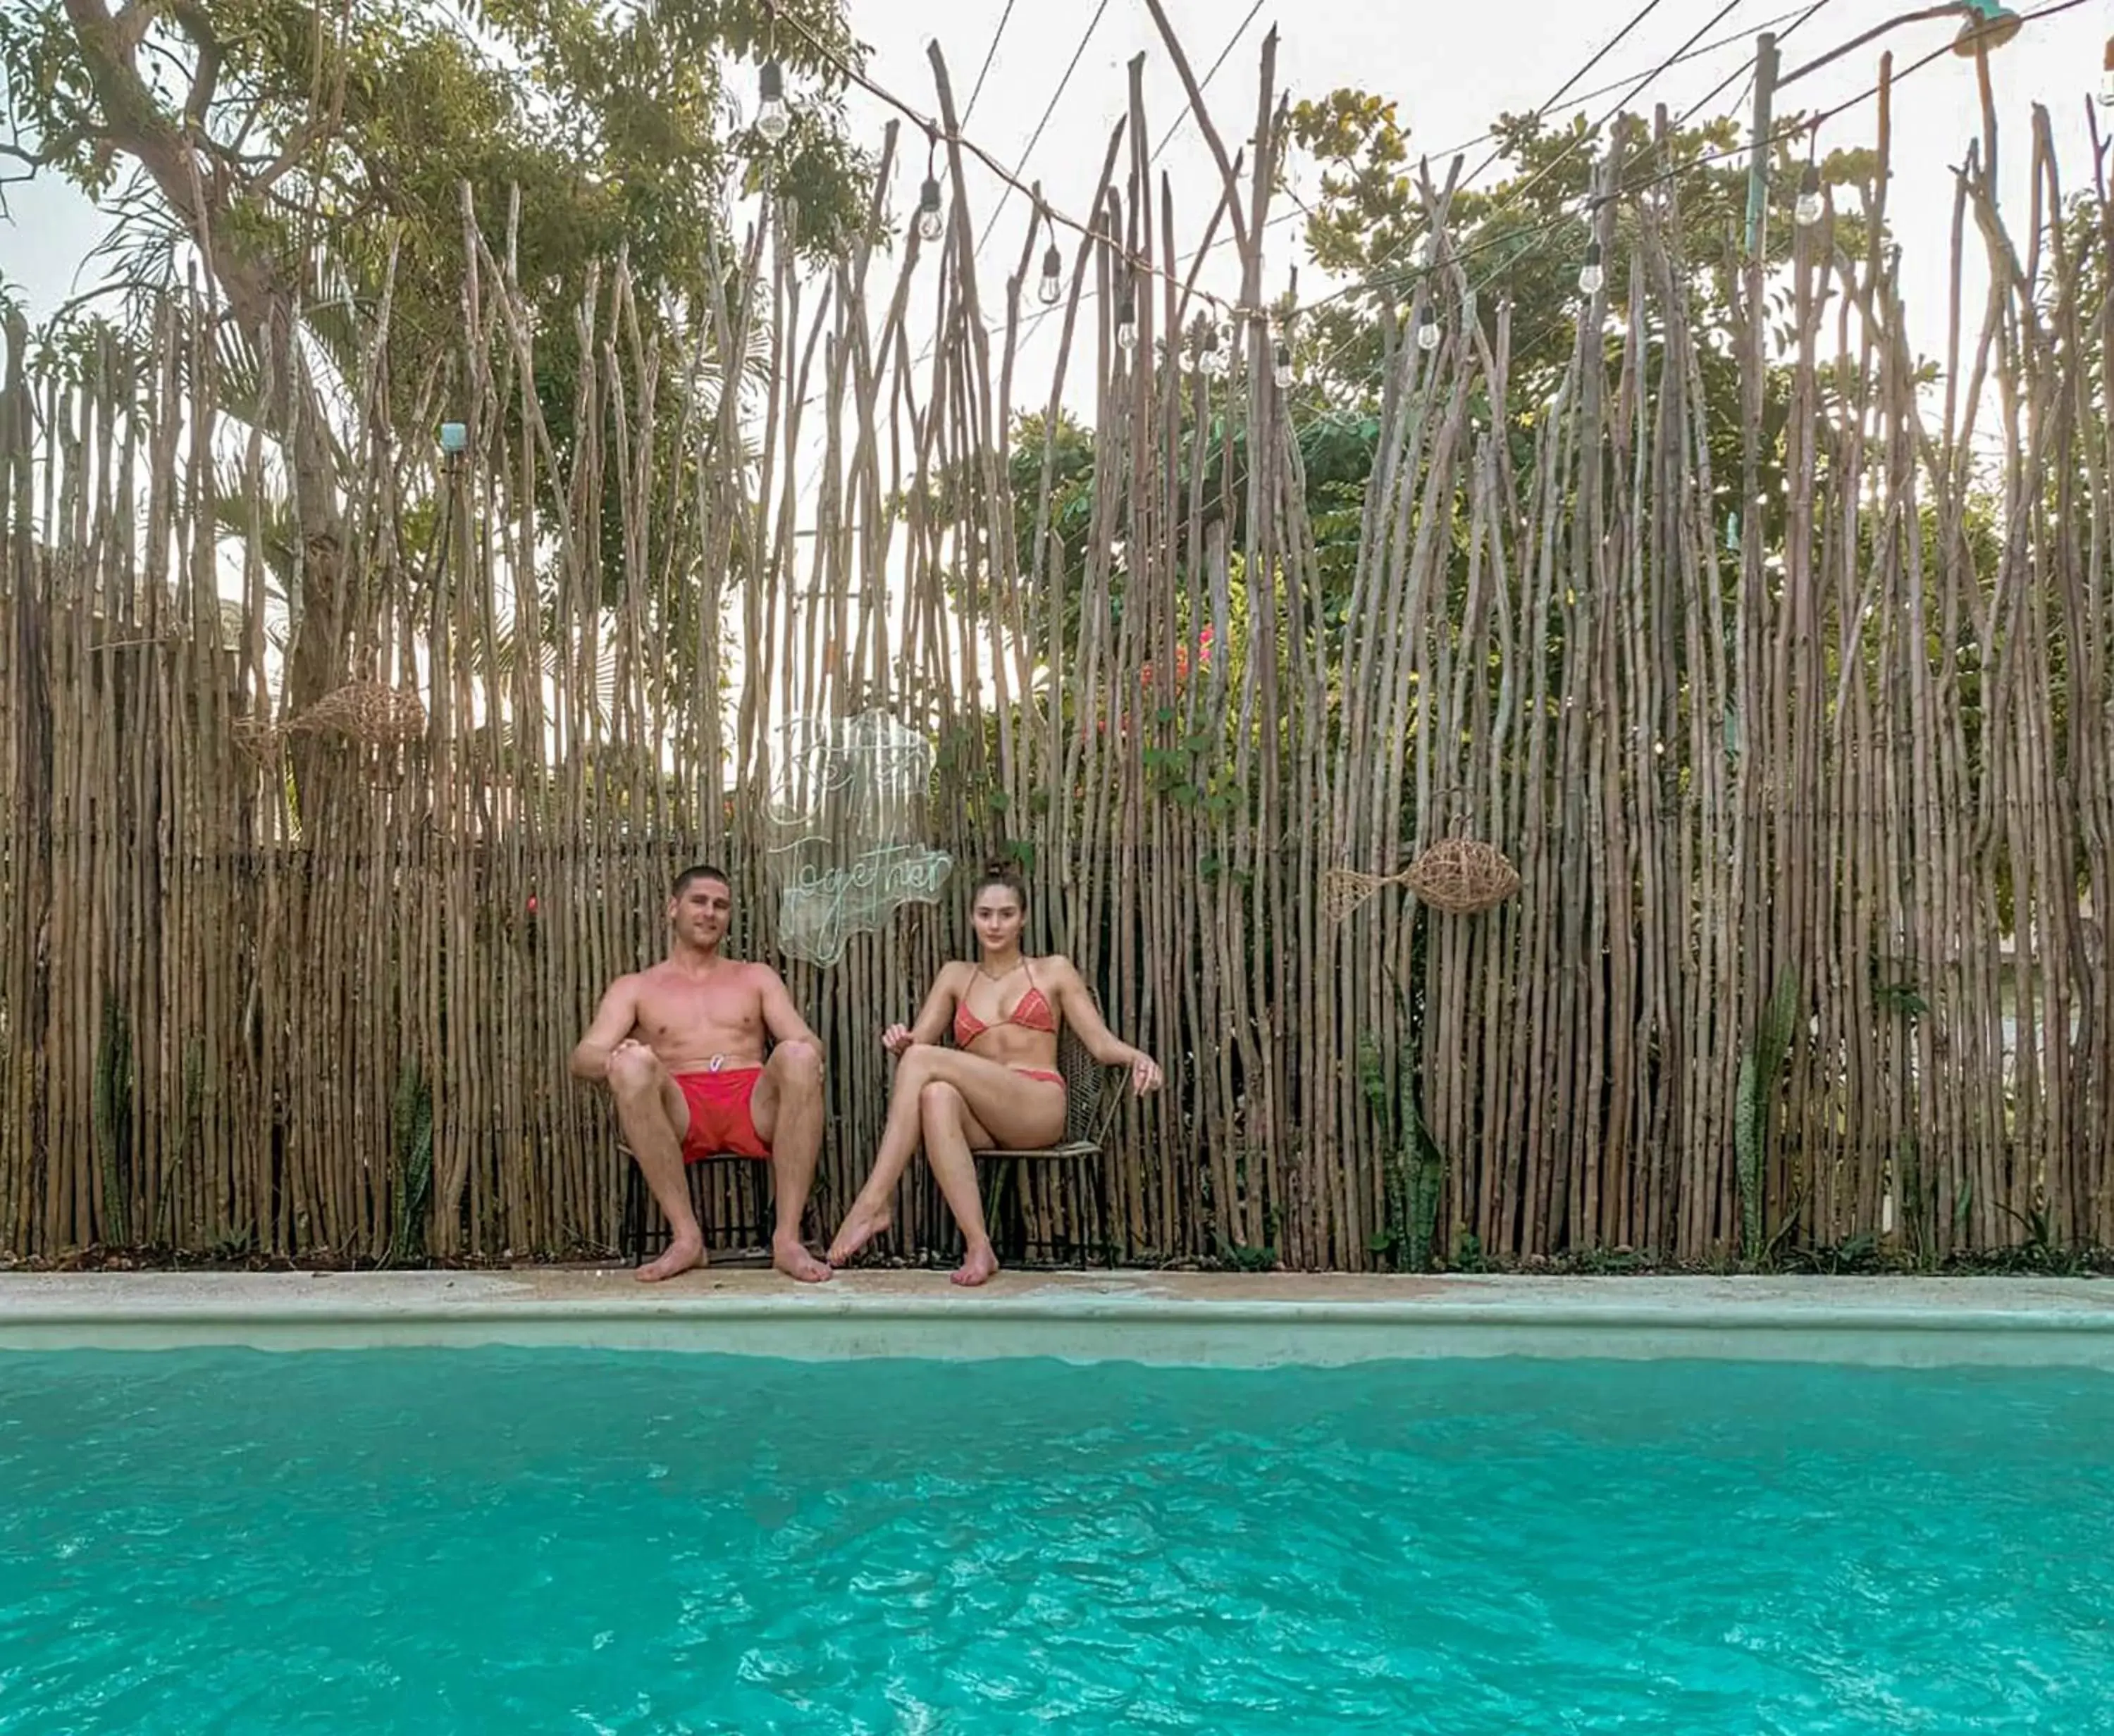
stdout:
<svg viewBox="0 0 2114 1736">
<path fill-rule="evenodd" d="M 592 1347 L 767 1355 L 1342 1366 L 1425 1358 L 1839 1362 L 1867 1366 L 2070 1366 L 2114 1370 L 2114 1307 L 1977 1307 L 1886 1300 L 1645 1300 L 1461 1294 L 1399 1300 L 1264 1300 L 1051 1294 L 757 1296 L 463 1294 L 378 1290 L 283 1300 L 169 1303 L 97 1294 L 6 1296 L 0 1351 L 378 1347 Z M 2095 1298 L 2097 1300 L 2097 1298 Z"/>
</svg>

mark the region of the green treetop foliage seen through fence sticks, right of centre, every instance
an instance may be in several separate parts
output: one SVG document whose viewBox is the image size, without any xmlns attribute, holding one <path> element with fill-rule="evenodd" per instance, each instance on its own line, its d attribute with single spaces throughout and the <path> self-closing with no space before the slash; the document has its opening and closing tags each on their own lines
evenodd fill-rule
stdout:
<svg viewBox="0 0 2114 1736">
<path fill-rule="evenodd" d="M 1676 129 L 1662 146 L 1649 146 L 1640 123 L 1617 123 L 1626 129 L 1626 167 L 1617 199 L 1617 245 L 1613 262 L 1628 258 L 1626 237 L 1636 224 L 1634 201 L 1659 186 L 1674 186 L 1683 207 L 1683 230 L 1698 235 L 1731 233 L 1744 216 L 1744 161 L 1717 161 L 1736 137 L 1729 121 L 1706 127 Z M 1492 321 L 1501 296 L 1514 302 L 1512 391 L 1516 404 L 1541 404 L 1569 366 L 1575 345 L 1577 260 L 1586 245 L 1586 218 L 1579 211 L 1594 176 L 1605 140 L 1588 133 L 1583 118 L 1571 125 L 1547 125 L 1535 116 L 1503 116 L 1497 137 L 1512 173 L 1486 190 L 1457 195 L 1448 239 L 1457 252 L 1473 252 L 1467 264 L 1471 281 L 1490 288 L 1478 296 L 1480 317 Z M 1334 91 L 1319 101 L 1306 101 L 1292 112 L 1294 148 L 1304 150 L 1321 171 L 1319 197 L 1311 203 L 1304 241 L 1317 264 L 1332 275 L 1355 279 L 1340 300 L 1300 315 L 1294 345 L 1302 362 L 1302 381 L 1292 393 L 1292 417 L 1304 474 L 1304 512 L 1315 533 L 1317 592 L 1311 601 L 1315 628 L 1340 636 L 1347 624 L 1351 577 L 1357 560 L 1364 522 L 1366 484 L 1372 476 L 1378 446 L 1380 357 L 1389 343 L 1389 321 L 1399 321 L 1406 302 L 1416 294 L 1418 275 L 1408 269 L 1412 243 L 1423 235 L 1423 201 L 1410 176 L 1408 129 L 1393 104 L 1366 91 Z M 1772 228 L 1772 260 L 1791 254 L 1788 203 L 1797 188 L 1799 165 L 1784 146 L 1774 186 L 1784 205 L 1782 220 Z M 1822 165 L 1831 186 L 1862 186 L 1875 173 L 1869 152 L 1837 152 Z M 1865 245 L 1860 218 L 1854 209 L 1837 218 L 1835 241 L 1841 247 Z M 1710 262 L 1691 262 L 1687 292 L 1700 321 L 1698 366 L 1704 376 L 1708 440 L 1712 455 L 1712 514 L 1723 522 L 1736 510 L 1742 493 L 1742 457 L 1748 433 L 1740 393 L 1740 362 L 1731 326 L 1731 254 Z M 1626 283 L 1611 277 L 1609 296 L 1619 304 Z M 1776 288 L 1769 315 L 1786 319 L 1791 290 Z M 1611 355 L 1619 336 L 1609 338 Z M 1197 427 L 1199 410 L 1209 417 Z M 1763 393 L 1759 423 L 1759 493 L 1765 520 L 1763 537 L 1782 535 L 1784 431 L 1791 414 L 1788 376 L 1772 372 Z M 1241 512 L 1247 488 L 1247 429 L 1241 421 L 1211 414 L 1211 395 L 1194 383 L 1180 398 L 1180 427 L 1173 436 L 1177 453 L 1175 499 L 1186 501 L 1190 472 L 1207 478 L 1203 527 L 1220 527 L 1226 543 L 1243 543 Z M 1488 406 L 1484 408 L 1488 417 Z M 1522 419 L 1512 421 L 1514 463 L 1533 461 L 1533 442 Z M 1049 541 L 1036 548 L 1038 512 L 1044 501 L 1044 469 L 1049 480 Z M 1222 480 L 1230 486 L 1222 486 Z M 1095 436 L 1072 417 L 1059 417 L 1051 427 L 1042 414 L 1025 414 L 1013 431 L 1008 450 L 1008 482 L 1013 493 L 1013 550 L 983 548 L 975 569 L 985 584 L 970 596 L 958 575 L 958 596 L 977 609 L 991 607 L 989 586 L 1010 562 L 1019 575 L 1030 575 L 1055 558 L 1068 575 L 1065 617 L 1057 624 L 1055 645 L 1070 655 L 1078 645 L 1078 609 L 1082 571 L 1091 531 L 1099 522 L 1095 480 Z M 949 522 L 985 522 L 975 499 L 981 480 L 975 474 L 941 474 L 932 482 L 932 510 Z M 1224 520 L 1224 522 L 1222 522 Z M 1177 522 L 1177 533 L 1186 527 Z M 1040 556 L 1040 558 L 1038 558 Z M 1184 550 L 1184 558 L 1201 569 L 1203 550 Z M 964 560 L 962 573 L 968 571 Z M 1241 584 L 1235 581 L 1235 605 L 1241 609 Z M 1110 613 L 1123 615 L 1127 573 L 1120 550 L 1110 573 Z M 1192 590 L 1201 596 L 1201 586 Z"/>
</svg>

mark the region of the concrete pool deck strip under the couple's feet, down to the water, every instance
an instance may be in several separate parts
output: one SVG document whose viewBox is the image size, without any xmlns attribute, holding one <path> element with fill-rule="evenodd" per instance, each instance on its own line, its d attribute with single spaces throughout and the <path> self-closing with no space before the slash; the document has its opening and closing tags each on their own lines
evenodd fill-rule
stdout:
<svg viewBox="0 0 2114 1736">
<path fill-rule="evenodd" d="M 2114 1370 L 2114 1283 L 2000 1277 L 1309 1277 L 721 1269 L 0 1273 L 0 1351 L 520 1345 L 1076 1362 L 1723 1358 Z"/>
</svg>

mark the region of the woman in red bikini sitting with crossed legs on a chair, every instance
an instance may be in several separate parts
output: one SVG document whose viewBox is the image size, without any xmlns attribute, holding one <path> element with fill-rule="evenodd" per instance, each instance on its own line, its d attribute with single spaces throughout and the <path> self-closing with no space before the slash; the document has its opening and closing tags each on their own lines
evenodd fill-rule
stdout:
<svg viewBox="0 0 2114 1736">
<path fill-rule="evenodd" d="M 896 1182 L 922 1144 L 966 1243 L 953 1281 L 983 1283 L 998 1271 L 970 1152 L 1036 1150 L 1063 1140 L 1061 1023 L 1070 1021 L 1104 1066 L 1127 1066 L 1131 1089 L 1161 1087 L 1158 1064 L 1101 1023 L 1072 960 L 1021 954 L 1027 888 L 1019 873 L 1004 865 L 985 869 L 970 922 L 977 962 L 943 966 L 917 1023 L 890 1026 L 882 1034 L 882 1047 L 896 1057 L 896 1085 L 873 1174 L 829 1245 L 833 1267 L 888 1229 Z M 953 1047 L 945 1049 L 941 1036 L 949 1023 Z"/>
</svg>

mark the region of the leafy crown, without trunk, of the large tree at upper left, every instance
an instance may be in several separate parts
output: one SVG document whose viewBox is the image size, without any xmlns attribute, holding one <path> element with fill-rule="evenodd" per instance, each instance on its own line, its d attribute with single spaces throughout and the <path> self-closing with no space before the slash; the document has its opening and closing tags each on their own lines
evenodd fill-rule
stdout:
<svg viewBox="0 0 2114 1736">
<path fill-rule="evenodd" d="M 38 167 L 112 199 L 135 171 L 161 171 L 161 152 L 190 133 L 233 192 L 216 241 L 290 271 L 321 243 L 340 281 L 309 281 L 309 300 L 347 292 L 361 307 L 400 247 L 393 317 L 431 338 L 461 330 L 465 182 L 495 233 L 520 190 L 520 281 L 533 300 L 552 296 L 554 313 L 619 250 L 649 296 L 696 292 L 721 269 L 721 201 L 755 173 L 772 173 L 799 203 L 801 239 L 818 258 L 865 218 L 841 76 L 799 30 L 774 38 L 789 74 L 805 80 L 786 140 L 763 152 L 731 125 L 727 61 L 759 53 L 765 0 L 622 13 L 497 0 L 459 15 L 402 0 L 342 11 L 184 0 L 127 8 L 137 40 L 129 25 L 91 23 L 95 11 L 11 0 L 0 125 L 34 142 Z M 856 63 L 835 0 L 786 11 Z M 127 93 L 104 57 L 133 70 L 137 89 Z M 144 207 L 118 209 L 120 226 L 142 230 L 120 254 L 146 264 L 152 241 L 163 250 L 152 262 L 171 266 L 178 233 L 146 235 Z"/>
</svg>

